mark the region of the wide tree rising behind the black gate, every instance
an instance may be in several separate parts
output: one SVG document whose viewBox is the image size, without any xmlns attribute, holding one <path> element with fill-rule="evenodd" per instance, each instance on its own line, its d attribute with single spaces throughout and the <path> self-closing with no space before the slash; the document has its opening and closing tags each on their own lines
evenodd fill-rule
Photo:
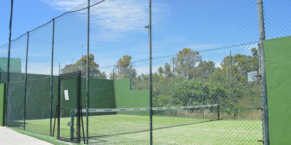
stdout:
<svg viewBox="0 0 291 145">
<path fill-rule="evenodd" d="M 95 60 L 94 55 L 92 53 L 89 54 L 90 77 L 106 79 L 105 72 L 101 73 L 101 71 L 98 68 L 99 64 L 97 64 L 94 60 Z M 81 59 L 77 60 L 77 62 L 74 64 L 65 65 L 65 67 L 61 69 L 61 74 L 82 71 L 82 77 L 84 77 L 86 76 L 86 70 L 87 70 L 87 55 L 82 56 Z"/>
</svg>

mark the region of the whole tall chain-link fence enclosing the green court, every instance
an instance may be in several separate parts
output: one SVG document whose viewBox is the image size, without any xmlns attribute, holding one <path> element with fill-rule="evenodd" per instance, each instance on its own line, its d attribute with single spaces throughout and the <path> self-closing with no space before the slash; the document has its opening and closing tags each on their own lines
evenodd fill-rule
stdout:
<svg viewBox="0 0 291 145">
<path fill-rule="evenodd" d="M 290 35 L 291 2 L 263 2 L 266 38 Z M 264 144 L 257 4 L 86 1 L 11 40 L 9 72 L 0 46 L 7 125 L 87 144 Z M 79 100 L 58 79 L 73 72 Z"/>
</svg>

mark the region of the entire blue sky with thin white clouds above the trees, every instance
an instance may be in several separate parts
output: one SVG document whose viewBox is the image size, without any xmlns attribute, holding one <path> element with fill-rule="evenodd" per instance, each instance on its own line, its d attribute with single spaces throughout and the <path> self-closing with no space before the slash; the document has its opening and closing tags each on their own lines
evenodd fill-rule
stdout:
<svg viewBox="0 0 291 145">
<path fill-rule="evenodd" d="M 91 5 L 99 1 L 91 0 Z M 265 1 L 267 38 L 290 35 L 288 7 L 291 2 Z M 72 8 L 79 10 L 86 6 L 83 0 L 15 1 L 12 39 Z M 1 7 L 0 19 L 4 23 L 0 24 L 0 42 L 6 42 L 9 1 L 3 2 Z M 95 55 L 100 70 L 109 74 L 120 57 L 131 55 L 132 61 L 138 61 L 133 64 L 137 73 L 148 73 L 148 30 L 144 28 L 148 25 L 148 1 L 106 0 L 90 10 L 90 53 Z M 171 58 L 185 47 L 199 51 L 203 60 L 214 61 L 217 67 L 230 51 L 233 55 L 251 55 L 250 49 L 259 41 L 257 21 L 255 1 L 152 0 L 153 71 L 165 62 L 171 63 Z M 80 58 L 81 45 L 85 54 L 86 32 L 86 9 L 55 20 L 55 75 L 59 63 L 63 68 L 72 58 L 73 63 Z M 51 41 L 52 22 L 29 33 L 28 73 L 50 73 Z M 26 36 L 11 44 L 11 57 L 21 58 L 22 70 L 25 50 Z M 7 56 L 6 48 L 0 48 L 0 52 L 0 57 Z"/>
</svg>

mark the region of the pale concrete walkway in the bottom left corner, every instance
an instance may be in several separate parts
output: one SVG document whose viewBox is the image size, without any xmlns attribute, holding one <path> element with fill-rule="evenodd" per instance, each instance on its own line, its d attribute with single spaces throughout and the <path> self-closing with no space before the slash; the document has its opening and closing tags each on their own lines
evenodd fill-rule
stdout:
<svg viewBox="0 0 291 145">
<path fill-rule="evenodd" d="M 23 135 L 7 127 L 0 126 L 0 145 L 52 145 L 48 142 Z"/>
</svg>

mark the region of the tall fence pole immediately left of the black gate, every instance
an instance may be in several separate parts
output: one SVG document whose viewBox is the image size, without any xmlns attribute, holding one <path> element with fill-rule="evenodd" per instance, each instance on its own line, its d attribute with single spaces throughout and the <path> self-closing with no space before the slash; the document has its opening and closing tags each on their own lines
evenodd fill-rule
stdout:
<svg viewBox="0 0 291 145">
<path fill-rule="evenodd" d="M 54 62 L 54 18 L 53 18 L 53 34 L 52 34 L 52 64 L 51 64 L 51 115 L 49 119 L 49 135 L 52 136 L 52 111 L 53 111 L 53 62 Z"/>
</svg>

